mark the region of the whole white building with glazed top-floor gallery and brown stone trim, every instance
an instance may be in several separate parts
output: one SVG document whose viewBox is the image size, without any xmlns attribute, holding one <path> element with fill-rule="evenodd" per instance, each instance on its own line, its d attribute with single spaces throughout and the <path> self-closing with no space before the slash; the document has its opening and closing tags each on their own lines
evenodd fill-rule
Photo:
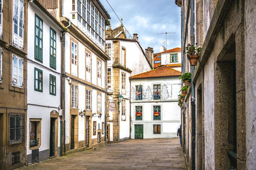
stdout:
<svg viewBox="0 0 256 170">
<path fill-rule="evenodd" d="M 59 20 L 65 34 L 64 152 L 105 143 L 105 25 L 110 18 L 100 1 L 67 0 Z M 57 13 L 58 15 L 58 13 Z"/>
</svg>

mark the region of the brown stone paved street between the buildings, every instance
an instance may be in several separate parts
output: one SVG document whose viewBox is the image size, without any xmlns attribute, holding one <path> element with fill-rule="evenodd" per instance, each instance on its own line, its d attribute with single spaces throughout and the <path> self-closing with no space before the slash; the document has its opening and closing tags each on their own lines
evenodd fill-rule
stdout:
<svg viewBox="0 0 256 170">
<path fill-rule="evenodd" d="M 178 138 L 131 139 L 20 169 L 186 169 L 186 164 Z"/>
</svg>

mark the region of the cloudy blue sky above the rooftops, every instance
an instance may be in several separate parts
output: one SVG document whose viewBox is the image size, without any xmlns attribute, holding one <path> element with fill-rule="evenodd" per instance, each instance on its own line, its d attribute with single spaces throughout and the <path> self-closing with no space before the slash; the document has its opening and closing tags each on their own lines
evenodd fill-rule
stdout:
<svg viewBox="0 0 256 170">
<path fill-rule="evenodd" d="M 167 34 L 167 49 L 180 47 L 180 8 L 175 0 L 100 0 L 108 11 L 111 28 L 120 25 L 109 4 L 118 17 L 123 18 L 123 24 L 131 34 L 137 33 L 142 48 L 154 48 L 154 53 L 159 52 L 160 46 L 165 46 Z M 108 27 L 107 27 L 108 28 Z M 107 29 L 106 28 L 106 29 Z M 129 34 L 127 34 L 129 38 Z"/>
</svg>

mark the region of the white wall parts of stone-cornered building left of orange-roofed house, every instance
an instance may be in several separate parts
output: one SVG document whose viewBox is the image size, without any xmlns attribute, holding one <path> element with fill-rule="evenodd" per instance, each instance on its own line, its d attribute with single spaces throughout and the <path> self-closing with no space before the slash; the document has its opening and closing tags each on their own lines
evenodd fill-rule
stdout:
<svg viewBox="0 0 256 170">
<path fill-rule="evenodd" d="M 111 45 L 111 50 L 109 51 L 108 55 L 111 58 L 111 60 L 108 61 L 108 69 L 111 69 L 111 83 L 108 83 L 108 92 L 120 92 L 122 96 L 124 96 L 124 101 L 119 104 L 119 139 L 127 139 L 130 137 L 130 82 L 129 77 L 134 74 L 143 73 L 145 71 L 150 71 L 151 67 L 148 63 L 147 57 L 145 56 L 145 53 L 143 53 L 142 49 L 140 48 L 140 45 L 138 45 L 137 41 L 131 41 L 131 39 L 128 40 L 122 40 L 118 39 L 120 42 L 120 54 L 119 56 L 122 57 L 122 49 L 125 49 L 126 57 L 125 57 L 125 65 L 126 68 L 131 69 L 132 72 L 129 73 L 125 69 L 120 69 L 120 75 L 119 75 L 119 82 L 120 85 L 118 89 L 113 89 L 113 60 L 114 60 L 114 50 L 113 50 L 113 41 L 112 40 L 106 40 L 106 45 Z M 121 61 L 122 62 L 122 59 Z M 122 66 L 123 63 L 120 63 Z M 122 73 L 125 74 L 125 89 L 122 89 Z M 109 101 L 115 101 L 116 99 L 113 99 L 113 96 L 109 96 Z M 122 115 L 122 107 L 123 104 L 125 104 L 125 114 Z M 109 120 L 113 121 L 113 111 L 108 111 Z M 113 122 L 108 122 L 109 124 L 109 141 L 113 141 Z"/>
</svg>

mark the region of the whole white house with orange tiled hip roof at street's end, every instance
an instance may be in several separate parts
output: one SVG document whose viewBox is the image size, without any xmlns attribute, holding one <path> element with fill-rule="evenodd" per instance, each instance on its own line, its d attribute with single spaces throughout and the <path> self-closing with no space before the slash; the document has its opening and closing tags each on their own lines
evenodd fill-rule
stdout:
<svg viewBox="0 0 256 170">
<path fill-rule="evenodd" d="M 131 138 L 175 138 L 180 126 L 180 71 L 161 66 L 131 76 Z"/>
</svg>

